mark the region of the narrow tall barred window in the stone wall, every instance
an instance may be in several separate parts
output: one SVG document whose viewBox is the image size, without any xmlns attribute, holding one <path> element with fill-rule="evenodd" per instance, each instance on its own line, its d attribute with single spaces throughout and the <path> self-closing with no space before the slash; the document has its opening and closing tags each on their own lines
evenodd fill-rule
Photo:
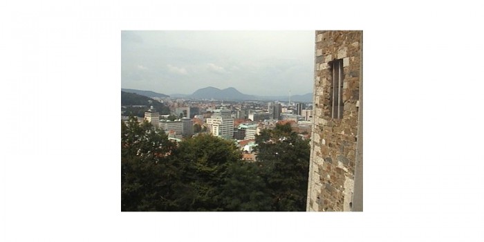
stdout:
<svg viewBox="0 0 484 242">
<path fill-rule="evenodd" d="M 333 82 L 331 86 L 331 118 L 343 118 L 343 59 L 331 62 Z"/>
</svg>

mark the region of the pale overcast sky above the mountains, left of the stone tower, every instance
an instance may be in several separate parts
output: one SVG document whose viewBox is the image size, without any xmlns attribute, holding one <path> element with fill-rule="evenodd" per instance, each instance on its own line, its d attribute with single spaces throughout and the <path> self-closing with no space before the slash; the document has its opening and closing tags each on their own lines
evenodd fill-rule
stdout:
<svg viewBox="0 0 484 242">
<path fill-rule="evenodd" d="M 191 94 L 313 92 L 314 31 L 122 31 L 121 87 Z"/>
</svg>

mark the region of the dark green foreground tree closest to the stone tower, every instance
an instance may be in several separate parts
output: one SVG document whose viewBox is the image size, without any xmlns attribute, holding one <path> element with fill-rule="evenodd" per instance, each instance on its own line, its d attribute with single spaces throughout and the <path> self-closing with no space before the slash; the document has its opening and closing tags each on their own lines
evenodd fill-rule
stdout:
<svg viewBox="0 0 484 242">
<path fill-rule="evenodd" d="M 305 211 L 310 145 L 290 124 L 277 124 L 256 136 L 257 161 L 274 211 Z"/>
</svg>

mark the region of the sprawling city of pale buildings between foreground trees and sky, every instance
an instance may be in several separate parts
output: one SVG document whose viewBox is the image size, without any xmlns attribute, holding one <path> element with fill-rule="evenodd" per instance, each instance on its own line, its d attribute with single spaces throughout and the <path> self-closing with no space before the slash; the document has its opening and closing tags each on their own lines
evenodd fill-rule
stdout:
<svg viewBox="0 0 484 242">
<path fill-rule="evenodd" d="M 278 123 L 290 124 L 303 140 L 310 138 L 313 104 L 294 102 L 290 96 L 286 102 L 271 102 L 184 99 L 133 89 L 122 89 L 121 92 L 122 103 L 125 104 L 121 106 L 122 120 L 129 120 L 130 115 L 136 116 L 138 122 L 147 120 L 165 131 L 169 140 L 176 142 L 202 133 L 234 140 L 244 151 L 244 160 L 255 160 L 257 156 L 256 152 L 252 152 L 255 136 L 260 135 L 263 129 L 274 129 Z M 143 105 L 143 101 L 136 100 L 142 94 L 153 96 Z M 141 97 L 141 100 L 145 99 Z M 129 103 L 128 100 L 138 102 Z M 162 110 L 155 109 L 153 103 L 162 105 Z"/>
</svg>

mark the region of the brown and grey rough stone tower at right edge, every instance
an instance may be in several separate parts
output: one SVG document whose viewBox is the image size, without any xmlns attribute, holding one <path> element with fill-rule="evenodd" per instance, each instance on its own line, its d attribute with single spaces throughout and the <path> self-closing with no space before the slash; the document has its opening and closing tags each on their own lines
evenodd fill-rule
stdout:
<svg viewBox="0 0 484 242">
<path fill-rule="evenodd" d="M 307 211 L 363 211 L 363 32 L 316 31 Z"/>
</svg>

